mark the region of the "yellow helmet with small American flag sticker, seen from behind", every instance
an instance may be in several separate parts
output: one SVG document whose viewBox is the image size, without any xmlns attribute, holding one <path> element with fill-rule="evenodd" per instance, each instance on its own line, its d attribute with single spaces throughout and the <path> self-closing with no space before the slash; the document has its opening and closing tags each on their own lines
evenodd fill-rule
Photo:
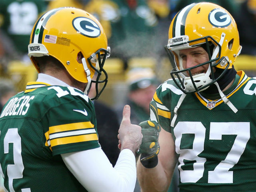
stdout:
<svg viewBox="0 0 256 192">
<path fill-rule="evenodd" d="M 107 38 L 100 22 L 90 13 L 71 7 L 50 10 L 43 14 L 34 25 L 28 45 L 28 56 L 40 72 L 34 57 L 52 56 L 59 60 L 68 73 L 79 82 L 88 83 L 85 92 L 90 90 L 91 82 L 96 83 L 96 99 L 106 86 L 108 75 L 103 69 L 106 58 L 110 56 Z M 84 58 L 77 61 L 78 53 Z M 91 80 L 97 72 L 96 80 Z M 103 72 L 104 80 L 99 80 Z M 98 92 L 98 83 L 104 83 Z"/>
</svg>

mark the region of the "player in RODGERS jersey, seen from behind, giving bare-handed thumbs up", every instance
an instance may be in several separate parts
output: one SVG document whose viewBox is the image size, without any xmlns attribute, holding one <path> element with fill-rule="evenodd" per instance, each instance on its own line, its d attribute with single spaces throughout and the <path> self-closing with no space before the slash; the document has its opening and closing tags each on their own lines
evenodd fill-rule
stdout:
<svg viewBox="0 0 256 192">
<path fill-rule="evenodd" d="M 9 192 L 132 192 L 141 128 L 130 124 L 130 106 L 119 129 L 114 168 L 98 142 L 94 105 L 107 82 L 110 55 L 101 24 L 77 8 L 43 14 L 32 30 L 28 56 L 36 82 L 16 94 L 0 114 L 0 172 Z M 97 72 L 96 80 L 92 80 Z M 106 135 L 107 137 L 107 135 Z"/>
</svg>

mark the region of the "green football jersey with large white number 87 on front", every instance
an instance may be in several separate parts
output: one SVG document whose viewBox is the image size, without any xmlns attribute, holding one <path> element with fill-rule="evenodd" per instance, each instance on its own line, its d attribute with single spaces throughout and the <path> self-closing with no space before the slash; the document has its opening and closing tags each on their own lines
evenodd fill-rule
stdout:
<svg viewBox="0 0 256 192">
<path fill-rule="evenodd" d="M 208 100 L 200 93 L 182 95 L 173 80 L 157 90 L 154 100 L 162 128 L 174 138 L 180 192 L 256 191 L 256 78 L 238 72 L 238 84 L 227 98 Z"/>
</svg>

